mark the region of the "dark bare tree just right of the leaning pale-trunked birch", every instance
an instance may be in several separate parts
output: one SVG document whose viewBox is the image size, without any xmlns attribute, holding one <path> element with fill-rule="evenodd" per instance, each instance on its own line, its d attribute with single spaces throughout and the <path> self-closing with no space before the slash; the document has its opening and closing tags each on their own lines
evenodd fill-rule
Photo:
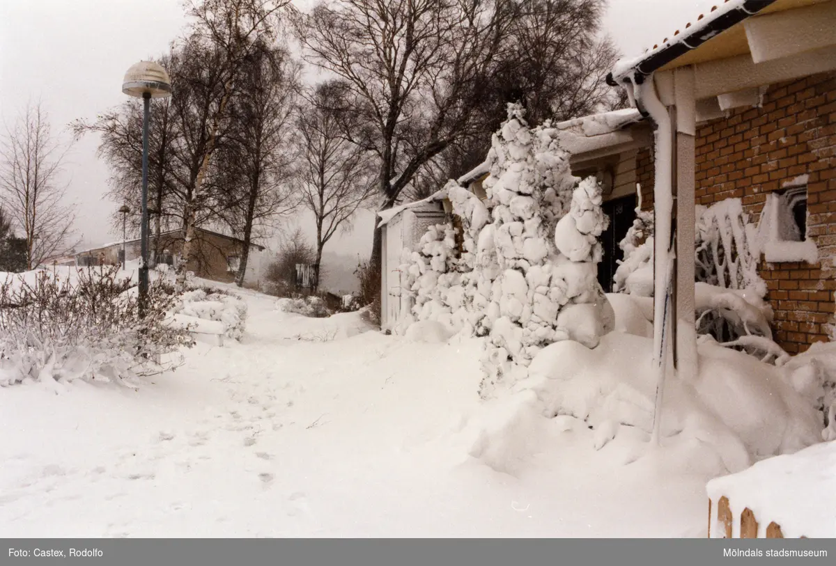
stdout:
<svg viewBox="0 0 836 566">
<path fill-rule="evenodd" d="M 242 240 L 236 283 L 243 285 L 252 241 L 268 236 L 298 206 L 293 194 L 293 109 L 299 64 L 284 48 L 257 43 L 229 104 L 229 128 L 218 145 L 207 190 L 217 192 L 219 214 Z"/>
</svg>

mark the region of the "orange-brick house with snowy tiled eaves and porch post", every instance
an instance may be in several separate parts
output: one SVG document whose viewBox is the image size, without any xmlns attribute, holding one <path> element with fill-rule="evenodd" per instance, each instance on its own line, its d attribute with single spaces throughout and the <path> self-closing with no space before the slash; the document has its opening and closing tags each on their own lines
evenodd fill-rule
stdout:
<svg viewBox="0 0 836 566">
<path fill-rule="evenodd" d="M 616 162 L 635 151 L 626 169 L 641 185 L 642 208 L 652 209 L 666 190 L 673 197 L 669 214 L 681 220 L 693 217 L 695 205 L 730 198 L 742 200 L 754 222 L 769 195 L 792 207 L 786 215 L 800 237 L 767 249 L 759 274 L 774 310 L 776 341 L 789 352 L 804 351 L 832 340 L 836 324 L 836 2 L 726 0 L 692 21 L 611 73 L 609 83 L 638 98 L 645 117 L 626 126 L 639 141 L 629 149 L 612 146 L 622 158 Z M 650 130 L 655 144 L 642 145 L 641 133 Z M 667 139 L 661 146 L 660 134 Z M 665 144 L 669 154 L 660 163 Z M 666 173 L 662 187 L 660 170 Z M 682 245 L 691 239 L 692 224 L 675 223 L 680 322 L 693 312 L 693 250 Z M 665 241 L 656 242 L 657 252 L 660 245 Z M 782 253 L 788 249 L 817 252 L 799 260 Z"/>
</svg>

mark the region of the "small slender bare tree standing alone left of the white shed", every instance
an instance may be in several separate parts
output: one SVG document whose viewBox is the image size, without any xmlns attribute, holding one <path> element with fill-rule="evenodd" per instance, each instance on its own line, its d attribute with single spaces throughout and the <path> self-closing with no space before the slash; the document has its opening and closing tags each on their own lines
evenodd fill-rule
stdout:
<svg viewBox="0 0 836 566">
<path fill-rule="evenodd" d="M 319 288 L 325 245 L 338 230 L 351 230 L 354 214 L 377 190 L 370 152 L 344 136 L 358 126 L 345 104 L 346 89 L 342 81 L 319 84 L 297 119 L 302 146 L 299 190 L 316 221 L 314 290 Z"/>
</svg>

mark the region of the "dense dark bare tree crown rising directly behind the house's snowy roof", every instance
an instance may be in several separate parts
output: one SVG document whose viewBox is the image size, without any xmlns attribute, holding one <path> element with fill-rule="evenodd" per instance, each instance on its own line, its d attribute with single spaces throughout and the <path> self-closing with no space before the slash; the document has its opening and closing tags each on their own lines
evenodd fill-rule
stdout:
<svg viewBox="0 0 836 566">
<path fill-rule="evenodd" d="M 562 121 L 624 107 L 622 91 L 604 83 L 618 53 L 601 36 L 605 0 L 530 0 L 520 3 L 497 56 L 491 80 L 476 101 L 477 127 L 421 168 L 407 189 L 424 198 L 485 159 L 508 103 L 526 108 L 531 124 Z M 620 104 L 620 105 L 619 105 Z"/>
</svg>

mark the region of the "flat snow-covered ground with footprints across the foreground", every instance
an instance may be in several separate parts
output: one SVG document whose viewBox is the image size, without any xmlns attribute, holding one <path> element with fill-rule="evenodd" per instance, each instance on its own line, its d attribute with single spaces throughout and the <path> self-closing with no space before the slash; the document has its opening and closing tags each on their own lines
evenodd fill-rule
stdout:
<svg viewBox="0 0 836 566">
<path fill-rule="evenodd" d="M 0 389 L 7 537 L 701 536 L 706 478 L 556 432 L 513 475 L 467 456 L 476 342 L 344 338 L 247 295 L 241 344 L 139 389 Z M 300 339 L 301 338 L 301 339 Z"/>
</svg>

